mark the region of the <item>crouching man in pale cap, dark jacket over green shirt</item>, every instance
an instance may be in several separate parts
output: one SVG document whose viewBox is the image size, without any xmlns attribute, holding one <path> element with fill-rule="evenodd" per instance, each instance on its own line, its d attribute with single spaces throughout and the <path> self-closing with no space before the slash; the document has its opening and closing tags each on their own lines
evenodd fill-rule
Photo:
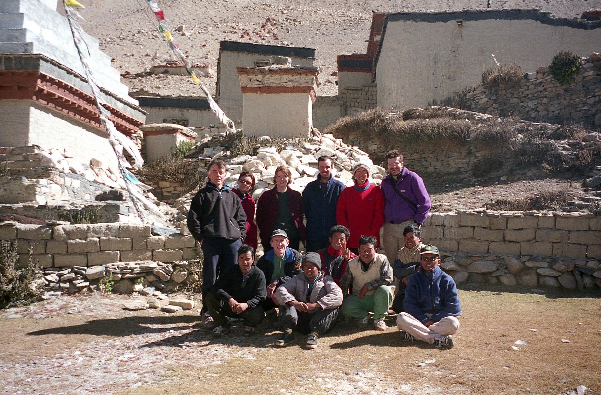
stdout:
<svg viewBox="0 0 601 395">
<path fill-rule="evenodd" d="M 273 292 L 290 278 L 301 272 L 301 253 L 288 247 L 288 233 L 275 229 L 271 233 L 269 243 L 272 247 L 257 261 L 257 268 L 263 271 L 267 283 L 267 299 L 261 304 L 265 311 L 276 307 Z"/>
</svg>

